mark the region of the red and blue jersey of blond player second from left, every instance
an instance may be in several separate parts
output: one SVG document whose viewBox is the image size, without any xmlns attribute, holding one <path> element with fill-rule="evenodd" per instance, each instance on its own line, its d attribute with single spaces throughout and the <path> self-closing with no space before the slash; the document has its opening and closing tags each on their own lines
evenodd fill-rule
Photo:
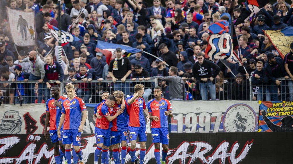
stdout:
<svg viewBox="0 0 293 164">
<path fill-rule="evenodd" d="M 65 114 L 64 130 L 78 129 L 81 122 L 81 111 L 86 110 L 84 100 L 74 97 L 71 101 L 66 100 L 62 103 L 62 114 Z"/>
</svg>

